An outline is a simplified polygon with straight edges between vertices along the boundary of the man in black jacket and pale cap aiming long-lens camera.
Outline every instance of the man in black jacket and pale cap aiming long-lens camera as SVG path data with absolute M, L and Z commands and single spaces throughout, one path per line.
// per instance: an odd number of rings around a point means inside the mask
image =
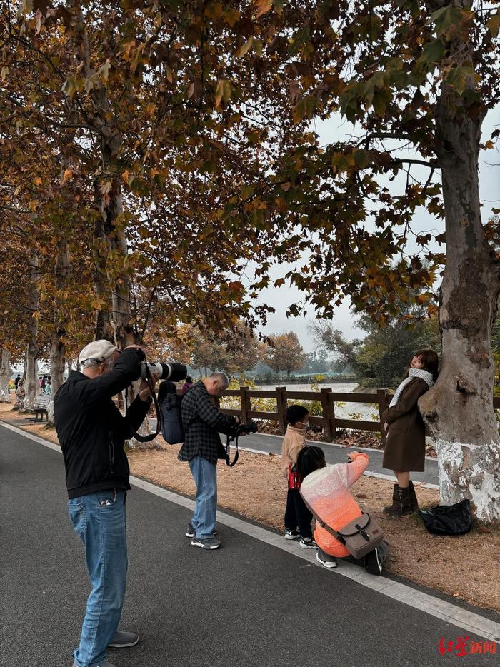
M 106 647 L 139 641 L 136 634 L 117 629 L 126 586 L 125 498 L 130 488 L 124 442 L 144 421 L 151 396 L 141 383 L 125 417 L 112 397 L 139 378 L 144 358 L 139 346 L 120 353 L 109 341 L 94 341 L 80 353 L 82 372 L 71 371 L 54 396 L 69 516 L 84 543 L 92 584 L 74 667 L 113 667 Z

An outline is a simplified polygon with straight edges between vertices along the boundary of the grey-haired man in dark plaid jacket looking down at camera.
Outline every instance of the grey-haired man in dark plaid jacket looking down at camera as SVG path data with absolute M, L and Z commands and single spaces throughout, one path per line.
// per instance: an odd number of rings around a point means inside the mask
M 229 386 L 225 373 L 211 376 L 192 386 L 182 398 L 182 426 L 184 444 L 179 452 L 181 461 L 189 461 L 196 483 L 196 508 L 186 536 L 192 546 L 216 549 L 221 542 L 216 533 L 217 513 L 217 459 L 225 458 L 221 433 L 231 433 L 238 425 L 234 417 L 216 408 L 211 396 L 221 396 Z

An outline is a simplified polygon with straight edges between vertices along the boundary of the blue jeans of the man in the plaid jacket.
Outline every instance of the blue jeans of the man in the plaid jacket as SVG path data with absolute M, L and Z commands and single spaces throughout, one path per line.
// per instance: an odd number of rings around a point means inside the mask
M 205 540 L 214 536 L 217 516 L 217 466 L 202 456 L 189 461 L 196 483 L 196 508 L 191 524 L 196 537 Z

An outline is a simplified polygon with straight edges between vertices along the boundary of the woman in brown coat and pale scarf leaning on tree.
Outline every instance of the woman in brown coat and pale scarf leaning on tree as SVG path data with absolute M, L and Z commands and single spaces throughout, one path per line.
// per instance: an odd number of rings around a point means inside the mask
M 382 414 L 387 431 L 382 466 L 394 471 L 392 506 L 388 514 L 410 514 L 419 508 L 411 471 L 423 471 L 425 462 L 425 426 L 418 401 L 436 381 L 438 356 L 433 350 L 419 350 L 411 358 L 406 378 L 396 389 L 389 408 Z

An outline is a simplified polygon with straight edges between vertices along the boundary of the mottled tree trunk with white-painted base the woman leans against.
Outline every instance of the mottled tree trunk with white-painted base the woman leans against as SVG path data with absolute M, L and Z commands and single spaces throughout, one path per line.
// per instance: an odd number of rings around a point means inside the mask
M 469 498 L 477 518 L 498 521 L 500 438 L 493 408 L 491 329 L 500 280 L 498 261 L 481 223 L 481 121 L 481 115 L 469 114 L 456 92 L 443 84 L 436 107 L 446 211 L 446 267 L 439 306 L 443 359 L 438 381 L 419 407 L 436 445 L 441 503 Z

